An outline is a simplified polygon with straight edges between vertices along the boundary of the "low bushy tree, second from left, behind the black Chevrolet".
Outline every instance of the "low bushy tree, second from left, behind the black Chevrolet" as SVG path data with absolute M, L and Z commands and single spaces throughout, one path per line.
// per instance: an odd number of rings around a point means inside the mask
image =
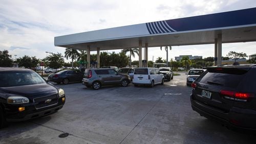
M 24 66 L 26 68 L 34 68 L 37 66 L 37 64 L 40 62 L 39 59 L 36 57 L 29 57 L 29 56 L 24 56 L 22 58 L 18 58 L 17 62 L 19 66 Z

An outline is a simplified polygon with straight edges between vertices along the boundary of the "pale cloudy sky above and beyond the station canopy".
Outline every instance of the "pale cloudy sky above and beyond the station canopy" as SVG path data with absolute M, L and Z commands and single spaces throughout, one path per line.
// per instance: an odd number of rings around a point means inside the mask
M 1 0 L 0 51 L 8 50 L 13 59 L 14 55 L 42 59 L 46 52 L 64 56 L 65 48 L 54 46 L 55 36 L 253 7 L 256 7 L 255 0 Z M 256 54 L 255 47 L 256 42 L 225 43 L 222 56 L 230 51 Z M 149 60 L 166 59 L 166 52 L 160 47 L 150 47 L 148 51 Z M 172 46 L 168 55 L 169 59 L 179 55 L 214 57 L 214 44 Z M 132 60 L 138 60 L 138 56 Z

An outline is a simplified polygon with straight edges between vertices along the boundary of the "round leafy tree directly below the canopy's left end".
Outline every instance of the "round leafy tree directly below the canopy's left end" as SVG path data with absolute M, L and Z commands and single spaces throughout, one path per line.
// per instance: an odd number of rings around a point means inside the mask
M 48 66 L 56 69 L 55 72 L 57 72 L 57 68 L 62 67 L 63 64 L 65 63 L 61 53 L 57 53 L 57 54 L 52 53 L 52 55 L 48 56 L 47 59 L 48 59 Z

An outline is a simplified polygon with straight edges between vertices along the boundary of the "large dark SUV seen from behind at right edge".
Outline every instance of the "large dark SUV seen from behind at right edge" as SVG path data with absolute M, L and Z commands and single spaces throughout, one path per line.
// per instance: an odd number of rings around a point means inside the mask
M 256 66 L 208 67 L 191 84 L 193 110 L 232 129 L 256 130 Z

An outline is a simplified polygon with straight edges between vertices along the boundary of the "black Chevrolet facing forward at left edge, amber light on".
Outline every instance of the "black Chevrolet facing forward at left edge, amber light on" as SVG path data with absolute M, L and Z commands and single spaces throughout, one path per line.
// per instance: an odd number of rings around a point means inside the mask
M 31 69 L 0 67 L 0 128 L 6 122 L 52 114 L 63 107 L 65 99 L 63 89 Z

